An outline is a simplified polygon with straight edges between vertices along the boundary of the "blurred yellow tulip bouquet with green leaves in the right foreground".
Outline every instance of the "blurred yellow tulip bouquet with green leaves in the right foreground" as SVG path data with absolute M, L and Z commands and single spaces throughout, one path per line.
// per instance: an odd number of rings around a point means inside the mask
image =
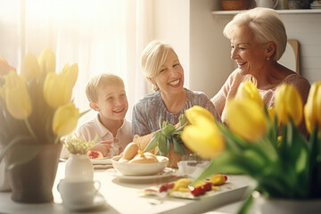
M 321 198 L 321 82 L 311 86 L 304 107 L 294 86 L 281 85 L 269 109 L 250 81 L 226 104 L 227 126 L 202 107 L 185 111 L 185 145 L 211 159 L 198 180 L 217 172 L 243 173 L 256 181 L 253 190 L 269 198 Z M 309 140 L 297 129 L 303 118 Z M 251 200 L 250 194 L 243 211 Z

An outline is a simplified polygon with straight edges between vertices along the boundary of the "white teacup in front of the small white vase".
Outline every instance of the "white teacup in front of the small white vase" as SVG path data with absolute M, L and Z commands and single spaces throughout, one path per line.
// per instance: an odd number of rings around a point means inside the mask
M 62 179 L 57 185 L 62 202 L 67 205 L 90 205 L 100 188 L 99 181 Z

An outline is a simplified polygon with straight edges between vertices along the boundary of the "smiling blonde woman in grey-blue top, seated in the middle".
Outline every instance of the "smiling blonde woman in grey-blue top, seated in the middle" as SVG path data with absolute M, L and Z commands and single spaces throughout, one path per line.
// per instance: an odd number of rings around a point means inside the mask
M 135 104 L 133 136 L 144 136 L 159 130 L 160 119 L 177 124 L 179 116 L 193 105 L 208 109 L 220 120 L 207 95 L 184 87 L 184 70 L 170 45 L 158 41 L 148 44 L 142 55 L 142 68 L 155 92 L 145 95 Z

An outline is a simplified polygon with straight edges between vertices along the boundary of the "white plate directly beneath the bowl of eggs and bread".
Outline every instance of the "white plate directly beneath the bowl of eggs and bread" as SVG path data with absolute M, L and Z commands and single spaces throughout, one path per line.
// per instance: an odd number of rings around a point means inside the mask
M 124 179 L 124 180 L 149 180 L 149 179 L 158 179 L 158 178 L 163 178 L 163 177 L 170 177 L 173 176 L 174 173 L 176 172 L 175 169 L 171 168 L 165 168 L 162 170 L 160 173 L 152 176 L 124 176 L 121 175 L 119 172 L 117 172 L 115 169 L 107 169 L 106 170 L 111 176 L 117 177 L 119 179 Z

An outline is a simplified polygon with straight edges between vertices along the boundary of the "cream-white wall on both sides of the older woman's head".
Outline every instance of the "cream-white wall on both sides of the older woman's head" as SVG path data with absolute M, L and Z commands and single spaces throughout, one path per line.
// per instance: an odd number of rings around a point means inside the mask
M 215 95 L 234 70 L 230 45 L 223 36 L 233 15 L 213 15 L 219 0 L 155 0 L 155 37 L 177 50 L 185 68 L 185 86 Z M 288 38 L 300 42 L 300 74 L 321 80 L 321 13 L 282 14 Z

